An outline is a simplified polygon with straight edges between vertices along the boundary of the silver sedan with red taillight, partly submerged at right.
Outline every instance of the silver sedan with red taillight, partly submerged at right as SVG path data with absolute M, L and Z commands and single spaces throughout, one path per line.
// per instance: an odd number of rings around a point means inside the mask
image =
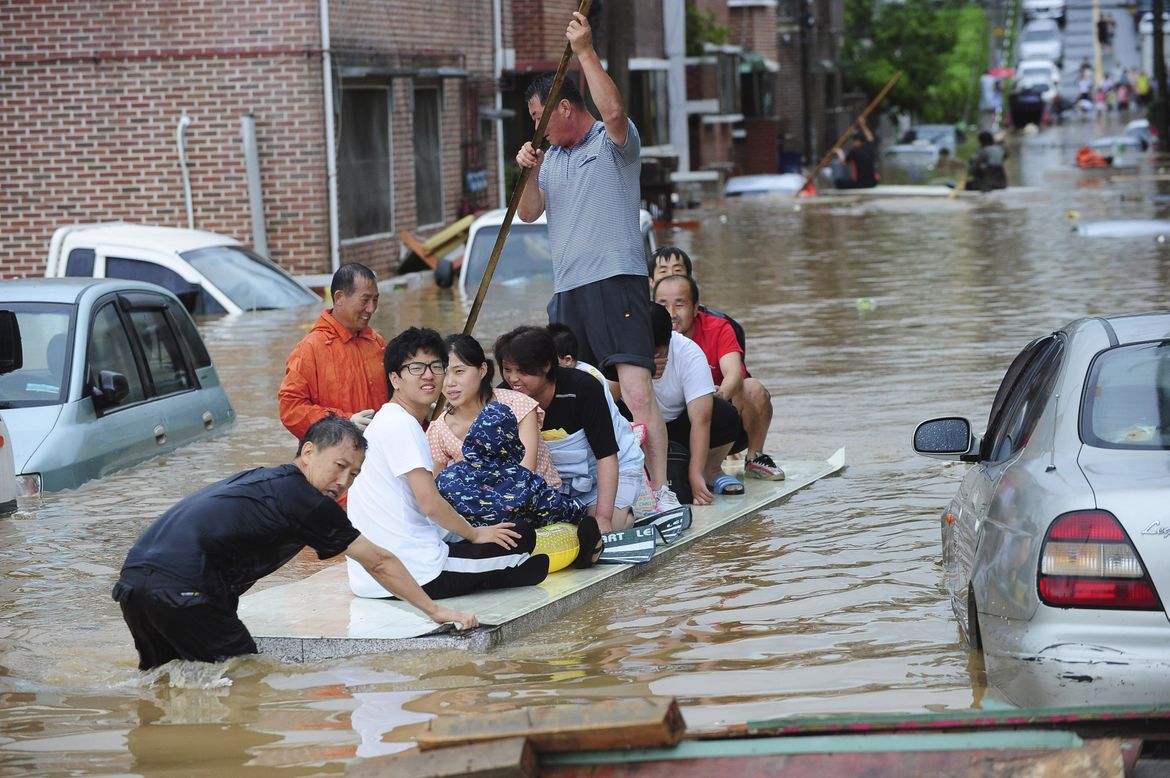
M 1017 704 L 1069 684 L 1170 701 L 1170 315 L 1033 340 L 982 435 L 932 419 L 914 448 L 973 464 L 942 516 L 943 574 L 989 679 L 1014 679 Z

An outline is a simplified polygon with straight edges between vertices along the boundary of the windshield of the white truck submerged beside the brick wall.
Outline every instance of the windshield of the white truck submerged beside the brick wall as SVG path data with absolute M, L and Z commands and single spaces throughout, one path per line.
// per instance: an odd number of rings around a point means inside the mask
M 183 259 L 246 311 L 321 302 L 271 262 L 239 246 L 201 248 Z

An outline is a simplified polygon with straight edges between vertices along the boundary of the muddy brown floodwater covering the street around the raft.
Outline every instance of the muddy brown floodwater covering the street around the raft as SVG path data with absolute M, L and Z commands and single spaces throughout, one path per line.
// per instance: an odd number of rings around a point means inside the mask
M 1072 123 L 1013 139 L 1009 175 L 1026 191 L 680 212 L 698 228 L 659 241 L 686 248 L 703 302 L 746 328 L 776 406 L 770 449 L 820 460 L 845 446 L 848 467 L 488 654 L 138 673 L 109 595 L 121 562 L 181 496 L 291 459 L 276 390 L 318 311 L 202 322 L 239 418 L 229 433 L 0 521 L 0 773 L 342 772 L 410 748 L 433 716 L 651 694 L 676 696 L 690 729 L 1004 704 L 941 580 L 938 515 L 964 467 L 916 456 L 910 434 L 944 414 L 982 432 L 1012 357 L 1069 319 L 1165 308 L 1170 246 L 1071 229 L 1069 216 L 1170 218 L 1148 160 L 1113 180 L 1072 166 L 1093 136 Z M 476 335 L 543 322 L 549 289 L 493 289 Z M 394 289 L 374 326 L 450 332 L 468 307 L 429 284 Z M 321 564 L 303 553 L 260 586 Z

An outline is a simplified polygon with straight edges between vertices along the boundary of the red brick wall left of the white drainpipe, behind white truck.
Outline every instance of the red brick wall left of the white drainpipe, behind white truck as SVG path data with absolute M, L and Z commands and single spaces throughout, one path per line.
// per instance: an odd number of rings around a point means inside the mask
M 230 20 L 230 22 L 228 22 Z M 0 276 L 43 273 L 53 230 L 122 219 L 252 234 L 240 116 L 253 112 L 269 248 L 328 261 L 312 0 L 6 4 L 0 9 Z

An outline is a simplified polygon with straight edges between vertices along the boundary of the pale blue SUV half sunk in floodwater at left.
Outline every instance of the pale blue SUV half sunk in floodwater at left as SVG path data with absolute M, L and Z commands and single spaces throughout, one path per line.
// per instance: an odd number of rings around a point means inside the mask
M 26 496 L 81 486 L 235 421 L 194 322 L 161 287 L 6 281 L 4 322 L 15 351 L 0 370 L 0 413 Z

